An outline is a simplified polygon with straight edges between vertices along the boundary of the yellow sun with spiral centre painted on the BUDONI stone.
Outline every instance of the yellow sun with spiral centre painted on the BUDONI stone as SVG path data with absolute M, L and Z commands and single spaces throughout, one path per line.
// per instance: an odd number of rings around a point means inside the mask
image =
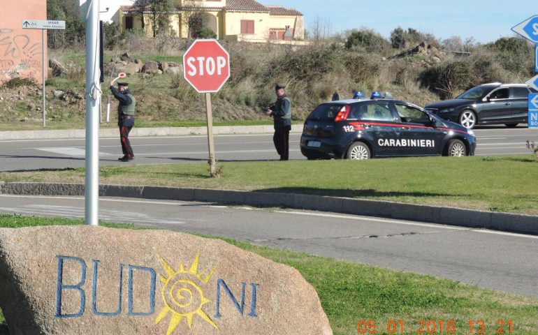
M 165 277 L 161 275 L 161 281 L 163 282 L 161 293 L 164 307 L 161 309 L 159 316 L 157 316 L 155 325 L 161 322 L 168 313 L 172 313 L 170 323 L 168 324 L 168 330 L 166 331 L 166 335 L 170 335 L 174 332 L 175 327 L 180 324 L 183 318 L 187 319 L 187 325 L 189 325 L 189 329 L 192 329 L 192 319 L 196 314 L 201 316 L 203 320 L 207 321 L 216 329 L 219 329 L 209 315 L 202 310 L 203 305 L 210 302 L 210 300 L 204 297 L 203 290 L 196 283 L 208 283 L 215 269 L 212 269 L 207 275 L 205 275 L 205 270 L 198 272 L 200 253 L 196 253 L 196 258 L 194 258 L 194 261 L 188 270 L 185 270 L 183 263 L 181 263 L 180 269 L 177 271 L 168 265 L 168 262 L 166 262 L 161 255 L 158 256 L 161 260 L 161 264 L 166 270 L 167 276 Z

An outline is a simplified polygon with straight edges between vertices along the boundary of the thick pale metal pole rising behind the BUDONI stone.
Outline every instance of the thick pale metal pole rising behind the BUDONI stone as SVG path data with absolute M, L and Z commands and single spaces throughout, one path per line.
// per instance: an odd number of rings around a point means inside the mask
M 97 0 L 87 4 L 85 223 L 99 225 L 99 5 Z

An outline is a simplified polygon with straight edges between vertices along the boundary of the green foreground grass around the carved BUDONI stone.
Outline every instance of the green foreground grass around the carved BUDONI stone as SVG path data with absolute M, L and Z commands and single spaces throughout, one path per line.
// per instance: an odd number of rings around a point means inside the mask
M 76 225 L 82 224 L 82 221 L 0 214 L 1 227 L 53 224 Z M 358 334 L 356 327 L 361 319 L 375 320 L 377 334 L 387 334 L 383 330 L 388 320 L 403 320 L 405 332 L 402 334 L 416 334 L 419 320 L 444 320 L 445 323 L 455 320 L 457 332 L 453 334 L 470 334 L 467 321 L 478 319 L 494 324 L 499 319 L 511 320 L 512 334 L 531 335 L 538 329 L 538 299 L 507 295 L 433 276 L 224 240 L 298 269 L 316 288 L 335 335 Z M 486 330 L 484 334 L 494 334 L 496 329 L 488 326 Z M 7 326 L 0 313 L 0 335 L 7 334 Z M 438 328 L 435 334 L 440 334 Z M 507 328 L 504 334 L 509 334 Z

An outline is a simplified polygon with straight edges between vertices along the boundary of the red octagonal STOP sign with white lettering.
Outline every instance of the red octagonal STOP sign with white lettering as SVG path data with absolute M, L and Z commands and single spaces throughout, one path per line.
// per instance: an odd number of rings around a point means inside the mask
M 217 40 L 195 40 L 183 54 L 183 77 L 200 93 L 217 92 L 230 77 L 230 55 Z

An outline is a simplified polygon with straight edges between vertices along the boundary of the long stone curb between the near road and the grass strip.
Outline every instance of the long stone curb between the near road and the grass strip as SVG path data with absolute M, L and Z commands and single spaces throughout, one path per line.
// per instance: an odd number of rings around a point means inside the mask
M 16 183 L 0 181 L 0 194 L 84 195 L 84 184 Z M 245 204 L 254 207 L 286 207 L 400 220 L 423 221 L 466 228 L 487 228 L 504 232 L 538 235 L 538 216 L 475 211 L 382 200 L 337 198 L 324 195 L 228 191 L 166 186 L 100 185 L 99 195 L 121 198 L 180 200 Z

